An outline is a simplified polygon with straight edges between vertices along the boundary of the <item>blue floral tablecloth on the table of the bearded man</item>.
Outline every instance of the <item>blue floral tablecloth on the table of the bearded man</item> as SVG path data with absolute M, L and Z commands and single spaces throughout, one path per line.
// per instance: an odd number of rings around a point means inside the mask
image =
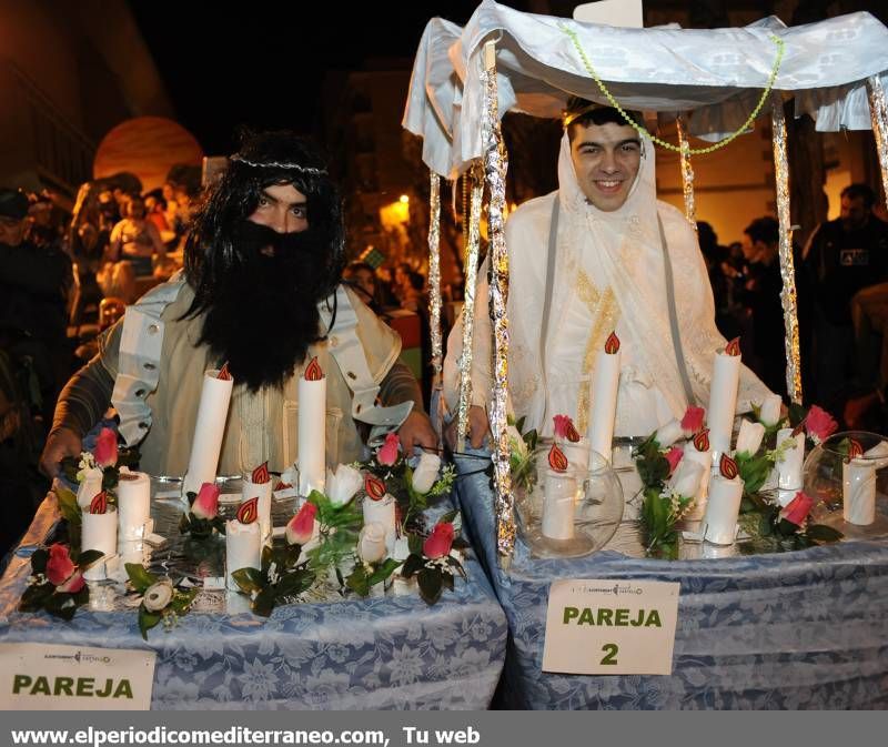
M 434 607 L 418 595 L 302 604 L 270 618 L 195 613 L 144 643 L 135 612 L 78 610 L 71 623 L 16 612 L 29 546 L 57 519 L 47 498 L 0 583 L 0 642 L 157 652 L 153 709 L 483 709 L 507 627 L 477 559 Z

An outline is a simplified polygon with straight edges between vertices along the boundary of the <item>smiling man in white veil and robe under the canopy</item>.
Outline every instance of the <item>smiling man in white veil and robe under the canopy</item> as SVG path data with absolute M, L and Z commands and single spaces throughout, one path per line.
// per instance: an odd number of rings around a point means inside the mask
M 637 114 L 632 115 L 642 122 Z M 657 201 L 653 142 L 620 112 L 572 98 L 556 192 L 521 205 L 505 229 L 509 258 L 509 401 L 525 428 L 551 436 L 552 416 L 588 427 L 591 382 L 612 332 L 623 367 L 615 436 L 646 436 L 688 404 L 706 405 L 713 357 L 726 341 L 685 216 Z M 487 262 L 476 290 L 470 437 L 488 431 Z M 451 333 L 444 394 L 458 402 L 462 324 Z M 769 392 L 743 367 L 737 412 Z

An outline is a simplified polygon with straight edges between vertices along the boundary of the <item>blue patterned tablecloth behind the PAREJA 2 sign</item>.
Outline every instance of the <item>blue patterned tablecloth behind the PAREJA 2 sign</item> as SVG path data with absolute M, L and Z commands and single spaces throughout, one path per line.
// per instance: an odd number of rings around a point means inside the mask
M 605 549 L 532 558 L 518 541 L 498 568 L 488 478 L 460 460 L 467 528 L 509 626 L 503 693 L 513 708 L 704 709 L 888 707 L 888 541 L 725 559 L 655 561 Z M 884 505 L 880 506 L 884 509 Z M 678 582 L 672 676 L 542 672 L 556 578 Z

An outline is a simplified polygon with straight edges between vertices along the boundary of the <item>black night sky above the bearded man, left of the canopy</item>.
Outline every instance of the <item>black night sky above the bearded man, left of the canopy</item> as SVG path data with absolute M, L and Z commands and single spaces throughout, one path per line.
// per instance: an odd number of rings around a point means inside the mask
M 326 70 L 412 62 L 431 18 L 464 24 L 477 4 L 130 1 L 176 119 L 211 154 L 231 152 L 239 124 L 314 133 Z

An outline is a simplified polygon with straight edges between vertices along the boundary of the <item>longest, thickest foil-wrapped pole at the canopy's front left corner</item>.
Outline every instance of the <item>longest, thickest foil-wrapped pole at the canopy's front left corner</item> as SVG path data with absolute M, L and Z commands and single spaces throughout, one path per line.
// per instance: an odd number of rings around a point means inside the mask
M 508 254 L 504 235 L 503 209 L 506 204 L 506 154 L 500 129 L 496 91 L 496 46 L 484 44 L 484 111 L 482 140 L 484 170 L 491 192 L 487 209 L 487 234 L 491 240 L 491 315 L 493 317 L 493 397 L 490 408 L 493 434 L 494 484 L 496 486 L 496 549 L 500 564 L 507 567 L 515 549 L 515 496 L 508 465 L 508 437 L 506 434 L 508 385 Z

